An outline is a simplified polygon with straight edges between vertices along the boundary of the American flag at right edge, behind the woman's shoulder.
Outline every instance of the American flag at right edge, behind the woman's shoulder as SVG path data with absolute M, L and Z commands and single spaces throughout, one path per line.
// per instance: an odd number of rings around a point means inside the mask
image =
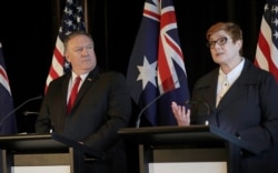
M 264 9 L 255 65 L 271 72 L 278 82 L 278 1 L 267 0 Z

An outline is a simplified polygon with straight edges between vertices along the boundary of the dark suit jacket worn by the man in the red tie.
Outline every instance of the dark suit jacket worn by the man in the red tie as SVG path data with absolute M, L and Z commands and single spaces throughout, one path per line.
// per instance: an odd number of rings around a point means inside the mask
M 50 118 L 56 133 L 103 152 L 106 161 L 101 166 L 108 165 L 106 170 L 125 172 L 125 147 L 117 134 L 120 128 L 128 125 L 131 115 L 131 100 L 125 77 L 98 68 L 92 70 L 79 90 L 71 113 L 67 115 L 70 78 L 71 73 L 68 73 L 50 83 L 36 131 L 48 133 L 50 124 L 46 120 Z

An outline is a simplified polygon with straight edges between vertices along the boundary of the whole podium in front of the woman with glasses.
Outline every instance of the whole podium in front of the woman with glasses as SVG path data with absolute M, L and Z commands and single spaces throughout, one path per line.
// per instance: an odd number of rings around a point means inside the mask
M 126 128 L 120 129 L 118 133 L 139 145 L 140 173 L 156 173 L 156 167 L 150 166 L 156 165 L 153 163 L 198 163 L 197 167 L 200 167 L 201 163 L 219 163 L 217 164 L 221 169 L 219 172 L 230 173 L 232 169 L 230 166 L 230 144 L 256 153 L 247 143 L 216 126 Z M 211 165 L 209 166 L 211 167 Z M 167 172 L 165 170 L 158 172 Z M 214 169 L 211 172 L 215 173 L 216 170 Z M 169 172 L 179 171 L 171 169 Z M 180 172 L 201 171 L 182 169 Z

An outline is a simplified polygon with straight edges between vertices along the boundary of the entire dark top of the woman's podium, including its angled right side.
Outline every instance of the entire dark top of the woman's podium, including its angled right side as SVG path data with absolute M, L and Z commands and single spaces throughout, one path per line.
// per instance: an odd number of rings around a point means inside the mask
M 123 128 L 118 131 L 123 138 L 138 144 L 167 145 L 167 144 L 195 144 L 215 145 L 222 142 L 234 143 L 251 153 L 257 154 L 248 143 L 237 136 L 224 132 L 217 126 L 189 125 L 189 126 L 143 126 Z

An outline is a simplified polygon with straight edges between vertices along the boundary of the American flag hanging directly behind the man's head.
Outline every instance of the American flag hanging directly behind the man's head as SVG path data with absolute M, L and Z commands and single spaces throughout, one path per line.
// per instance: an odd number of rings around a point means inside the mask
M 76 30 L 86 30 L 82 4 L 80 0 L 67 0 L 44 92 L 53 79 L 61 77 L 64 72 L 71 69 L 70 64 L 63 57 L 63 40 L 66 35 Z

